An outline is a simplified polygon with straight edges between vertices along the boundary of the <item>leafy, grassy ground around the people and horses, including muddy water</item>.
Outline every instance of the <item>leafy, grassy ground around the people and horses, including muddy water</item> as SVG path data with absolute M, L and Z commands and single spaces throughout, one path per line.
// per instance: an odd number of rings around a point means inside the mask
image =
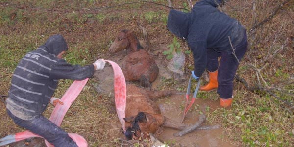
M 187 0 L 171 1 L 172 7 L 189 11 Z M 294 1 L 285 0 L 289 2 L 279 8 L 283 1 L 230 0 L 220 8 L 239 20 L 248 33 L 248 51 L 234 80 L 234 101 L 225 109 L 219 106 L 216 91 L 199 92 L 184 123 L 195 122 L 203 113 L 200 108 L 206 105 L 205 123 L 220 124 L 221 128 L 195 131 L 182 138 L 172 136 L 175 130 L 164 129 L 156 137 L 170 147 L 294 146 Z M 187 43 L 167 30 L 167 5 L 168 0 L 0 0 L 0 95 L 8 95 L 19 60 L 49 36 L 62 34 L 69 46 L 65 59 L 87 65 L 98 58 L 112 58 L 108 49 L 122 29 L 134 31 L 156 58 L 160 74 L 152 88 L 185 92 L 193 70 L 192 55 Z M 263 20 L 265 23 L 260 24 Z M 164 71 L 171 70 L 167 67 L 174 54 L 163 52 L 175 43 L 181 45 L 178 50 L 184 56 L 184 64 L 180 70 L 167 74 Z M 208 82 L 207 73 L 201 78 L 202 85 Z M 60 80 L 54 96 L 61 98 L 72 82 Z M 131 145 L 120 139 L 123 134 L 113 96 L 97 91 L 101 84 L 99 78 L 89 80 L 61 127 L 83 136 L 89 147 L 152 146 L 149 140 Z M 184 100 L 184 96 L 176 95 L 156 102 L 177 120 Z M 43 115 L 49 118 L 53 108 L 49 105 Z M 0 120 L 0 138 L 24 130 L 8 117 L 2 101 Z

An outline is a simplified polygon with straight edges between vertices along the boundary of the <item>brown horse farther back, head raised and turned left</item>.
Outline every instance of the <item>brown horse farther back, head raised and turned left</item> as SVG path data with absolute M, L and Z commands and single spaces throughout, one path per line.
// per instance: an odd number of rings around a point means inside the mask
M 153 57 L 143 49 L 132 31 L 120 31 L 109 51 L 116 53 L 123 49 L 127 50 L 121 65 L 125 80 L 140 81 L 143 87 L 150 87 L 150 83 L 157 78 L 159 69 Z

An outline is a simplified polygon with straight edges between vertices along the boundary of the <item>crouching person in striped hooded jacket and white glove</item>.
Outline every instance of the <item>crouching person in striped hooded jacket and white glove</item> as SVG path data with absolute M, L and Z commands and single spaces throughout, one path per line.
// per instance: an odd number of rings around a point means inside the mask
M 6 99 L 8 115 L 19 126 L 44 137 L 55 147 L 78 147 L 59 126 L 42 116 L 49 101 L 62 104 L 52 97 L 59 79 L 83 80 L 93 76 L 95 70 L 104 68 L 105 61 L 80 66 L 62 59 L 68 50 L 65 39 L 57 34 L 44 45 L 28 52 L 17 65 Z

